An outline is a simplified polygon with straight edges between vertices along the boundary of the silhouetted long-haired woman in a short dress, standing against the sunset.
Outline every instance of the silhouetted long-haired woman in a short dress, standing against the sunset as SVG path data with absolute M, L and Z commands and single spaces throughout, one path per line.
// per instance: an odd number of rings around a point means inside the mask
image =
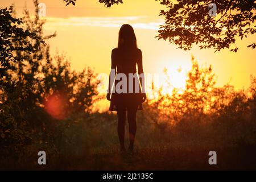
M 112 64 L 109 76 L 107 99 L 109 110 L 117 111 L 117 131 L 121 152 L 125 151 L 126 111 L 129 123 L 129 151 L 133 152 L 137 130 L 136 113 L 142 110 L 146 100 L 142 52 L 137 47 L 137 39 L 129 24 L 123 24 L 119 30 L 118 47 L 112 50 Z M 138 73 L 136 65 L 138 66 Z M 109 92 L 111 90 L 111 92 Z

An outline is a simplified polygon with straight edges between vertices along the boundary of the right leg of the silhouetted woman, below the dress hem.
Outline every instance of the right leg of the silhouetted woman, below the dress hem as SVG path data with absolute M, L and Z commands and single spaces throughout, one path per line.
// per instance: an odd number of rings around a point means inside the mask
M 137 130 L 136 124 L 136 113 L 137 113 L 137 105 L 129 106 L 127 108 L 127 117 L 129 122 L 129 137 L 130 137 L 130 146 L 129 150 L 133 151 L 134 139 Z

